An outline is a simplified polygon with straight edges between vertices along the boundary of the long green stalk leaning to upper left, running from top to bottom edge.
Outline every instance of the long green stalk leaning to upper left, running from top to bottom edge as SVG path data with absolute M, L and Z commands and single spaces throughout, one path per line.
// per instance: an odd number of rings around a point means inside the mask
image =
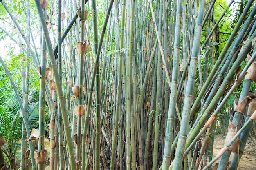
M 67 139 L 67 148 L 68 148 L 69 157 L 70 157 L 71 170 L 75 170 L 76 163 L 75 163 L 75 159 L 74 159 L 73 144 L 72 144 L 71 133 L 70 133 L 70 124 L 69 124 L 69 120 L 68 120 L 68 116 L 67 116 L 67 109 L 65 106 L 65 96 L 63 95 L 63 91 L 61 88 L 61 79 L 58 74 L 58 68 L 57 68 L 55 56 L 54 56 L 54 53 L 52 50 L 52 43 L 49 38 L 49 32 L 47 30 L 47 25 L 46 25 L 44 17 L 43 17 L 43 11 L 42 11 L 42 8 L 40 7 L 40 2 L 38 0 L 35 0 L 35 2 L 36 2 L 37 11 L 39 13 L 40 22 L 42 24 L 47 49 L 49 51 L 49 57 L 50 57 L 51 64 L 52 64 L 52 71 L 53 71 L 54 77 L 56 79 L 56 88 L 57 88 L 57 93 L 58 93 L 59 104 L 61 107 L 61 113 L 63 116 L 64 130 L 65 130 L 65 135 L 66 135 L 66 139 Z

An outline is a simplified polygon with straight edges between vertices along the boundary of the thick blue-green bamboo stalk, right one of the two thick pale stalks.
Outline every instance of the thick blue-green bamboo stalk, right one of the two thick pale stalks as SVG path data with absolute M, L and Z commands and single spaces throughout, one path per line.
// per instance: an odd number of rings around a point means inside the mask
M 189 68 L 189 77 L 188 77 L 188 84 L 185 93 L 184 99 L 184 106 L 182 112 L 182 121 L 180 127 L 180 135 L 177 143 L 177 150 L 175 152 L 175 158 L 173 160 L 173 169 L 180 170 L 182 166 L 182 158 L 183 152 L 186 143 L 186 135 L 188 131 L 189 125 L 189 113 L 191 109 L 192 97 L 194 92 L 194 84 L 195 84 L 195 72 L 196 72 L 196 64 L 198 60 L 198 53 L 199 53 L 199 46 L 200 46 L 200 38 L 202 33 L 202 20 L 203 20 L 203 13 L 204 13 L 204 4 L 205 1 L 200 1 L 199 9 L 198 9 L 198 18 L 196 21 L 196 28 L 195 28 L 195 39 L 193 42 L 193 49 L 190 61 L 190 68 Z

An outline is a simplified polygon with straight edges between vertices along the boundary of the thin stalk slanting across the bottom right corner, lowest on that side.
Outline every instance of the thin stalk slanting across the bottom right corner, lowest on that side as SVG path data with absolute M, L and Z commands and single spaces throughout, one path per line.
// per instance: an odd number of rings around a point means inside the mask
M 236 133 L 236 135 L 229 141 L 229 143 L 227 144 L 227 146 L 224 146 L 220 152 L 216 155 L 216 157 L 213 158 L 213 160 L 211 162 L 209 162 L 207 164 L 207 166 L 205 166 L 202 170 L 207 170 L 207 168 L 209 168 L 215 161 L 217 161 L 224 153 L 225 151 L 227 151 L 229 149 L 229 147 L 231 146 L 231 144 L 234 143 L 234 141 L 240 136 L 240 134 L 243 132 L 243 130 L 246 129 L 246 127 L 252 122 L 256 120 L 256 111 L 254 111 L 254 113 L 252 114 L 252 116 L 249 118 L 248 121 L 246 121 L 246 123 L 242 126 L 242 128 L 240 128 L 240 130 Z

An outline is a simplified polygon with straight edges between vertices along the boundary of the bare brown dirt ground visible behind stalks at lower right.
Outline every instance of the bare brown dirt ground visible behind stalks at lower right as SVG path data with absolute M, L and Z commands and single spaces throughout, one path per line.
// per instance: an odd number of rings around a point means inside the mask
M 224 146 L 225 137 L 221 135 L 216 135 L 214 140 L 213 155 L 216 156 L 220 149 Z M 233 153 L 231 153 L 230 159 Z M 219 161 L 219 160 L 218 160 Z M 217 161 L 217 162 L 218 162 Z M 213 163 L 215 165 L 215 163 Z M 249 138 L 238 164 L 238 170 L 256 170 L 256 138 Z

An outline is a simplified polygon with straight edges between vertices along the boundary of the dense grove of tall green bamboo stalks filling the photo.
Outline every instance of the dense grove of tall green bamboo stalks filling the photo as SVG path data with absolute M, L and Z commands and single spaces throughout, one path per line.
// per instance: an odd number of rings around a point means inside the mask
M 22 93 L 0 57 L 23 117 L 21 170 L 28 160 L 43 170 L 47 154 L 50 170 L 238 168 L 256 119 L 253 0 L 240 1 L 228 33 L 219 27 L 234 0 L 218 18 L 218 0 L 0 2 L 12 22 L 0 29 L 21 54 Z M 27 121 L 31 69 L 40 75 L 36 135 Z M 225 144 L 213 155 L 216 122 L 234 91 Z

